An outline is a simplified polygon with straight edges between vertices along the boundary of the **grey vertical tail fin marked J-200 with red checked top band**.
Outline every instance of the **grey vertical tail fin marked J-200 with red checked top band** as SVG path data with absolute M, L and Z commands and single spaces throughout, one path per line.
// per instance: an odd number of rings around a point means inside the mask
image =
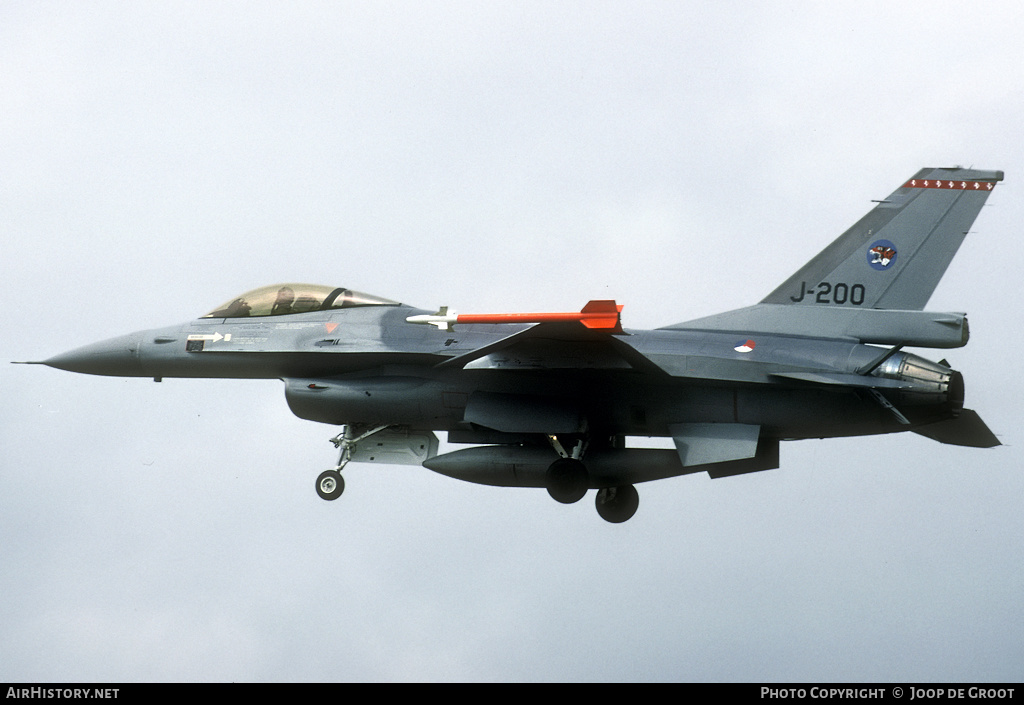
M 922 169 L 762 303 L 921 310 L 1001 171 Z

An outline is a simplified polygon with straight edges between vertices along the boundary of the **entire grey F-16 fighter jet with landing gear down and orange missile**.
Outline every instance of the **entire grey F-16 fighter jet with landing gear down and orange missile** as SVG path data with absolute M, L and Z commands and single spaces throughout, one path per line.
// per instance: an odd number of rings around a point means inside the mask
M 779 465 L 779 442 L 910 430 L 999 445 L 964 377 L 904 347 L 968 341 L 965 314 L 924 310 L 1001 171 L 928 168 L 761 302 L 656 330 L 594 300 L 557 314 L 434 312 L 335 286 L 275 284 L 195 321 L 41 363 L 98 375 L 280 378 L 292 411 L 341 426 L 326 500 L 350 462 L 545 488 L 629 520 L 635 485 Z M 468 447 L 438 454 L 436 431 Z M 675 448 L 631 447 L 664 437 Z

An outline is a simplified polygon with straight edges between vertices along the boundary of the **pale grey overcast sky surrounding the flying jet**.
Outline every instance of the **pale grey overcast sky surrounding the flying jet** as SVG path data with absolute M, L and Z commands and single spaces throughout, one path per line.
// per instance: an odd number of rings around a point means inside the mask
M 1021 680 L 1024 9 L 0 3 L 0 680 Z M 929 308 L 1006 446 L 784 444 L 592 494 L 352 465 L 279 381 L 41 360 L 282 281 L 754 303 L 924 166 L 1004 169 Z

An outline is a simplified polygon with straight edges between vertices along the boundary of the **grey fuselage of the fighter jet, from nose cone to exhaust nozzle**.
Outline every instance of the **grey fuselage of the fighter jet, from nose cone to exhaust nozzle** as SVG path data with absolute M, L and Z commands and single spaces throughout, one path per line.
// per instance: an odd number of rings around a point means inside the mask
M 689 422 L 757 424 L 778 439 L 908 427 L 866 390 L 841 383 L 855 382 L 858 371 L 885 351 L 871 345 L 626 330 L 614 336 L 623 348 L 616 355 L 609 354 L 604 340 L 595 339 L 587 349 L 579 342 L 563 347 L 552 337 L 531 341 L 535 355 L 519 345 L 514 352 L 498 350 L 464 366 L 445 366 L 528 326 L 466 325 L 449 332 L 406 323 L 422 313 L 388 306 L 253 320 L 199 319 L 87 345 L 46 364 L 155 379 L 280 378 L 291 409 L 301 418 L 445 430 L 467 442 L 584 430 L 670 437 L 670 426 Z M 559 357 L 563 349 L 564 358 Z M 631 355 L 646 361 L 646 367 L 631 366 Z M 897 406 L 907 420 L 932 423 L 959 410 L 958 373 L 916 356 L 896 356 L 923 364 L 935 375 L 894 380 L 887 390 L 899 398 Z M 810 383 L 828 375 L 835 383 Z M 508 410 L 507 418 L 500 409 Z

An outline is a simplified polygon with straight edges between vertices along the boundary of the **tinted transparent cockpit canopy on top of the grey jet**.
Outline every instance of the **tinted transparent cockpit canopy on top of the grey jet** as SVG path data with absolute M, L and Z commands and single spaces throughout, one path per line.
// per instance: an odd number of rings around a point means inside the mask
M 253 289 L 217 306 L 204 319 L 285 316 L 353 306 L 397 306 L 397 301 L 344 287 L 318 284 L 274 284 Z

